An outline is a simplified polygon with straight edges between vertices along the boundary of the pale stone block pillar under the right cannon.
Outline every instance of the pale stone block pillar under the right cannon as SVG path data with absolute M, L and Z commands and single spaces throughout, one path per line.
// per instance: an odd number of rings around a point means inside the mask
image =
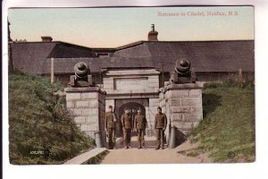
M 202 83 L 167 84 L 160 93 L 160 106 L 168 118 L 169 136 L 171 128 L 185 134 L 203 119 Z

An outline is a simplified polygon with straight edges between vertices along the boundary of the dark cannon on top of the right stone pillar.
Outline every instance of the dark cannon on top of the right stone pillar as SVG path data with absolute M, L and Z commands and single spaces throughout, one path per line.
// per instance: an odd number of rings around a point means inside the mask
M 171 82 L 180 83 L 195 83 L 197 81 L 196 72 L 191 69 L 191 64 L 186 59 L 177 60 L 174 67 L 174 72 L 171 74 Z

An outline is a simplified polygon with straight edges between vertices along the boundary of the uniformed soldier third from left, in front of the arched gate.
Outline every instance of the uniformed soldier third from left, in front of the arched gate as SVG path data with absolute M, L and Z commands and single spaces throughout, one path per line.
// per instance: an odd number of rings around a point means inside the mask
M 145 146 L 144 135 L 147 128 L 147 118 L 141 115 L 141 108 L 138 107 L 138 114 L 135 115 L 134 119 L 134 129 L 138 133 L 138 149 L 142 149 Z

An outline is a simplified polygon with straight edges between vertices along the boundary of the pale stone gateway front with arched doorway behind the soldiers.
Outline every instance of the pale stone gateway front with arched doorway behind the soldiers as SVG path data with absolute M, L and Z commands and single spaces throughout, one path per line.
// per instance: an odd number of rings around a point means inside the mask
M 103 81 L 107 92 L 106 108 L 112 105 L 119 120 L 123 107 L 131 109 L 131 116 L 137 114 L 137 107 L 144 108 L 147 135 L 154 135 L 156 107 L 159 106 L 159 72 L 154 69 L 113 70 L 105 73 Z M 117 126 L 120 130 L 120 121 Z M 116 133 L 121 135 L 120 131 Z

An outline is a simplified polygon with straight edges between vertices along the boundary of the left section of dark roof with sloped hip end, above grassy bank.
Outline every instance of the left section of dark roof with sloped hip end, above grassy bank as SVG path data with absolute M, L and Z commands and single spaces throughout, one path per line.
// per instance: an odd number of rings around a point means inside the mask
M 96 57 L 88 47 L 61 41 L 12 43 L 13 67 L 23 72 L 44 74 L 48 58 Z

